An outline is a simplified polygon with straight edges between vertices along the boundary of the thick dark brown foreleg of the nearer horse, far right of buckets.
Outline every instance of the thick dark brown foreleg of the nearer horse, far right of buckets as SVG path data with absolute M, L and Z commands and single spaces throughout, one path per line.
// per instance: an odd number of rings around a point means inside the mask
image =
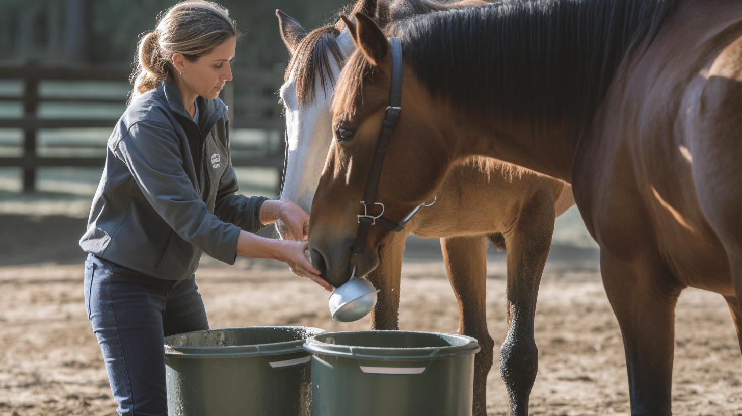
M 683 286 L 657 267 L 600 253 L 603 286 L 623 335 L 632 416 L 671 415 L 674 310 Z

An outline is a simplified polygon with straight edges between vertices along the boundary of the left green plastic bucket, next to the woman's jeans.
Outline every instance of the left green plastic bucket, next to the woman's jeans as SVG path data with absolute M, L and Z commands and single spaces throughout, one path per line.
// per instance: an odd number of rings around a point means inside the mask
M 311 357 L 323 330 L 224 328 L 165 338 L 170 416 L 309 415 Z

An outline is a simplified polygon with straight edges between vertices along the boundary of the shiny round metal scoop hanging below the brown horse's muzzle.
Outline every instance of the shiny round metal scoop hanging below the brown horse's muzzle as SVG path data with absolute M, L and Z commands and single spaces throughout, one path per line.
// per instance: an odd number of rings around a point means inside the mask
M 350 279 L 332 290 L 329 295 L 329 312 L 339 322 L 353 322 L 368 315 L 376 305 L 378 290 L 365 279 L 355 278 L 355 266 Z

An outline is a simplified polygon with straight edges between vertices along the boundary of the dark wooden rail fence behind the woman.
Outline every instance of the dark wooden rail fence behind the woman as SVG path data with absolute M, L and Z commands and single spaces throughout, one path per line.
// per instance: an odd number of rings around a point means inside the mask
M 125 68 L 50 68 L 37 65 L 0 67 L 0 79 L 22 81 L 21 95 L 0 94 L 0 101 L 22 102 L 23 114 L 18 118 L 0 118 L 0 129 L 22 129 L 24 131 L 23 155 L 20 157 L 0 157 L 0 166 L 17 166 L 23 169 L 23 189 L 36 188 L 36 169 L 42 166 L 103 166 L 105 157 L 42 157 L 37 152 L 37 132 L 41 129 L 85 129 L 111 128 L 118 118 L 99 117 L 39 117 L 42 103 L 108 103 L 124 104 L 126 97 L 45 97 L 39 94 L 43 81 L 121 81 L 128 80 L 131 70 Z M 281 108 L 275 91 L 283 82 L 282 74 L 271 71 L 234 71 L 234 79 L 227 82 L 223 90 L 223 100 L 229 105 L 229 118 L 232 129 L 283 130 L 284 120 L 280 119 Z M 237 93 L 237 94 L 235 94 Z M 235 98 L 235 95 L 237 98 Z M 266 137 L 267 134 L 266 134 Z M 103 148 L 104 143 L 100 147 Z M 90 146 L 88 146 L 90 147 Z M 253 148 L 240 149 L 233 146 L 234 166 L 275 167 L 278 175 L 283 166 L 283 144 L 263 146 L 258 151 Z M 234 152 L 234 151 L 237 152 Z M 240 152 L 242 151 L 242 152 Z M 243 156 L 240 156 L 243 155 Z

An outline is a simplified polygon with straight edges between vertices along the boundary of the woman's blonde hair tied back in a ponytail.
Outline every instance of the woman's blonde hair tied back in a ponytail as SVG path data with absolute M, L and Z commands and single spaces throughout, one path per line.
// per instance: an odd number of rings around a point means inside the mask
M 130 103 L 157 88 L 160 81 L 173 79 L 174 53 L 183 53 L 192 62 L 234 36 L 240 36 L 237 23 L 220 4 L 187 0 L 170 7 L 157 28 L 139 39 L 134 72 L 129 77 L 134 85 Z

